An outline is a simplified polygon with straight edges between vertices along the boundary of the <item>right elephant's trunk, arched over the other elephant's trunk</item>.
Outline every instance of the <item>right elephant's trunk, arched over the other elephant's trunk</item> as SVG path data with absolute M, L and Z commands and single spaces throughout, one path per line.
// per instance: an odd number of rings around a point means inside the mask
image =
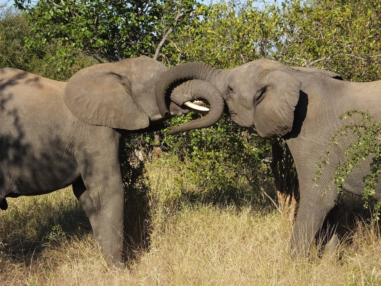
M 170 111 L 166 106 L 165 95 L 171 84 L 178 80 L 199 79 L 209 81 L 220 70 L 204 63 L 185 63 L 174 66 L 165 71 L 158 80 L 155 87 L 155 99 L 160 115 L 170 116 Z M 210 102 L 209 102 L 210 103 Z

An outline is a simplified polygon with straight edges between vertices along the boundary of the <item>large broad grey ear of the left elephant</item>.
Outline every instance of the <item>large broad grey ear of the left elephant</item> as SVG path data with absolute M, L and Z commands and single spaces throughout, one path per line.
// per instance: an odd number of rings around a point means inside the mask
M 67 82 L 64 101 L 81 121 L 112 128 L 136 130 L 149 125 L 149 117 L 131 92 L 126 67 L 96 64 L 78 71 Z

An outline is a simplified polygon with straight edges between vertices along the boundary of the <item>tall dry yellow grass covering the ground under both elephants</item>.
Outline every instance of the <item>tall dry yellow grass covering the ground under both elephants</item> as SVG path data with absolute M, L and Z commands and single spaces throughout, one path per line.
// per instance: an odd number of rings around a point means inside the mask
M 342 243 L 336 255 L 313 250 L 308 259 L 291 257 L 290 221 L 254 203 L 182 202 L 171 166 L 147 166 L 152 197 L 164 187 L 177 195 L 150 200 L 150 247 L 125 270 L 106 265 L 70 188 L 8 199 L 8 210 L 0 212 L 0 284 L 380 284 L 378 232 L 359 224 L 353 242 Z

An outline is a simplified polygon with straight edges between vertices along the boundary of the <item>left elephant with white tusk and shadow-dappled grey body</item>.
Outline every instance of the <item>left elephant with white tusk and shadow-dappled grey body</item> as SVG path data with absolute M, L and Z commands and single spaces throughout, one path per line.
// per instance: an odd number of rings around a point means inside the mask
M 121 138 L 160 129 L 166 118 L 189 112 L 187 101 L 203 98 L 210 112 L 177 132 L 208 127 L 224 109 L 216 87 L 191 80 L 171 87 L 170 112 L 161 116 L 155 85 L 167 69 L 147 56 L 95 64 L 68 82 L 0 69 L 0 208 L 7 197 L 72 185 L 105 259 L 123 264 Z

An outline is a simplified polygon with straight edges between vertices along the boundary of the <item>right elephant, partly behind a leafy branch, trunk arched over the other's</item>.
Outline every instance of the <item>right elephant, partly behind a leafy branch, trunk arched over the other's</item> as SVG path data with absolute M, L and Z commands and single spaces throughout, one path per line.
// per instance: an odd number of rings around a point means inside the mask
M 185 63 L 167 73 L 165 90 L 178 79 L 200 79 L 214 84 L 221 92 L 232 121 L 243 127 L 255 127 L 264 138 L 283 138 L 293 156 L 299 178 L 299 209 L 291 252 L 307 256 L 312 242 L 322 230 L 325 219 L 339 198 L 331 178 L 336 166 L 346 161 L 344 155 L 354 135 L 342 137 L 331 148 L 329 164 L 315 183 L 317 164 L 324 156 L 333 135 L 342 126 L 354 123 L 355 116 L 344 120 L 341 114 L 357 109 L 381 118 L 381 81 L 347 82 L 335 72 L 315 67 L 292 67 L 270 59 L 257 59 L 220 70 L 203 63 Z M 157 86 L 157 88 L 160 85 Z M 157 93 L 160 114 L 169 111 Z M 357 166 L 343 183 L 344 190 L 363 195 L 363 176 L 370 174 L 371 157 Z M 328 188 L 329 189 L 328 189 Z M 376 185 L 373 199 L 381 198 L 381 182 Z M 334 231 L 334 230 L 333 230 Z M 335 233 L 328 243 L 338 244 Z

